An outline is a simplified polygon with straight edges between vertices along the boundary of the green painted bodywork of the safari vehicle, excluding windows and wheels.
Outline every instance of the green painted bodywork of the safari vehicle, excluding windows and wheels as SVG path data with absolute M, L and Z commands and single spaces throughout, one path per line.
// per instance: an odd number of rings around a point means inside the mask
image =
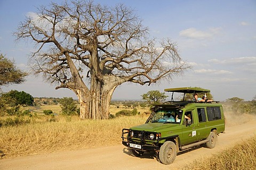
M 163 106 L 163 105 L 161 105 Z M 171 105 L 165 105 L 169 109 L 172 108 Z M 197 116 L 197 108 L 205 109 L 207 107 L 219 107 L 221 111 L 221 119 L 208 121 L 206 116 L 206 122 L 200 123 Z M 149 131 L 149 132 L 158 132 L 161 133 L 161 138 L 164 138 L 162 141 L 160 140 L 159 143 L 164 143 L 166 138 L 171 137 L 179 137 L 179 145 L 186 145 L 192 142 L 196 142 L 199 140 L 206 139 L 210 132 L 213 129 L 217 130 L 217 134 L 225 131 L 225 116 L 223 114 L 223 108 L 221 104 L 214 104 L 214 103 L 189 103 L 185 105 L 183 108 L 180 109 L 183 111 L 182 118 L 180 123 L 151 123 L 148 122 L 146 124 L 142 124 L 139 126 L 134 126 L 130 128 L 131 130 L 138 130 L 138 131 Z M 186 125 L 185 123 L 185 113 L 191 112 L 193 117 L 193 123 L 191 125 Z M 206 112 L 207 115 L 207 112 Z M 152 142 L 148 142 L 150 145 Z

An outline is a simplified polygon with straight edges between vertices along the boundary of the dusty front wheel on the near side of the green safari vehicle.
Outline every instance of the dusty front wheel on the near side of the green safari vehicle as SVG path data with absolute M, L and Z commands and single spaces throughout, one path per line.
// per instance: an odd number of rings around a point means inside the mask
M 169 165 L 174 162 L 176 155 L 177 148 L 175 143 L 171 141 L 166 141 L 160 148 L 159 160 L 162 164 Z

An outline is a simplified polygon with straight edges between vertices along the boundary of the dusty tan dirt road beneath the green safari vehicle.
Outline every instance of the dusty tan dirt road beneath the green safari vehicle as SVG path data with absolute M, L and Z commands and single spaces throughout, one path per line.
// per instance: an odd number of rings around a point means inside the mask
M 122 145 L 85 149 L 76 151 L 61 151 L 51 154 L 0 159 L 0 169 L 177 169 L 210 156 L 222 149 L 235 145 L 256 134 L 255 119 L 240 125 L 226 127 L 226 133 L 220 134 L 215 148 L 197 147 L 178 154 L 171 165 L 163 165 L 156 161 L 154 152 L 146 152 L 142 157 L 134 157 Z

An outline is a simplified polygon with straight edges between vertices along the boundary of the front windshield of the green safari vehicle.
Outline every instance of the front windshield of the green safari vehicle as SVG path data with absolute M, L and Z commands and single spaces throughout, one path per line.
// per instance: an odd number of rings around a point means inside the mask
M 180 123 L 182 111 L 180 109 L 161 109 L 153 112 L 150 122 L 158 123 Z

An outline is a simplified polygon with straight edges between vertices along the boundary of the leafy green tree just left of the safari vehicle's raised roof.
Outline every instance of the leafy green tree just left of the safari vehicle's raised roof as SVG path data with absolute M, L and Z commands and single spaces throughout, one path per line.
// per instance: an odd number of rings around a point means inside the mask
M 159 90 L 151 90 L 146 94 L 141 95 L 142 99 L 147 101 L 148 104 L 159 104 L 161 101 L 164 101 L 168 96 L 164 92 Z

